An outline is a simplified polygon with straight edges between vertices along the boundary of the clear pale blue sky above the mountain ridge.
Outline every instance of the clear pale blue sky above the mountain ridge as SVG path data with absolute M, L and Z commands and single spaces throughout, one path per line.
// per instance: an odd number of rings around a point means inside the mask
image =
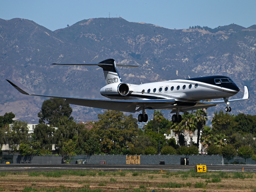
M 64 28 L 83 19 L 119 17 L 165 28 L 200 25 L 215 28 L 235 23 L 256 24 L 255 0 L 1 0 L 0 18 L 33 20 L 50 30 Z

